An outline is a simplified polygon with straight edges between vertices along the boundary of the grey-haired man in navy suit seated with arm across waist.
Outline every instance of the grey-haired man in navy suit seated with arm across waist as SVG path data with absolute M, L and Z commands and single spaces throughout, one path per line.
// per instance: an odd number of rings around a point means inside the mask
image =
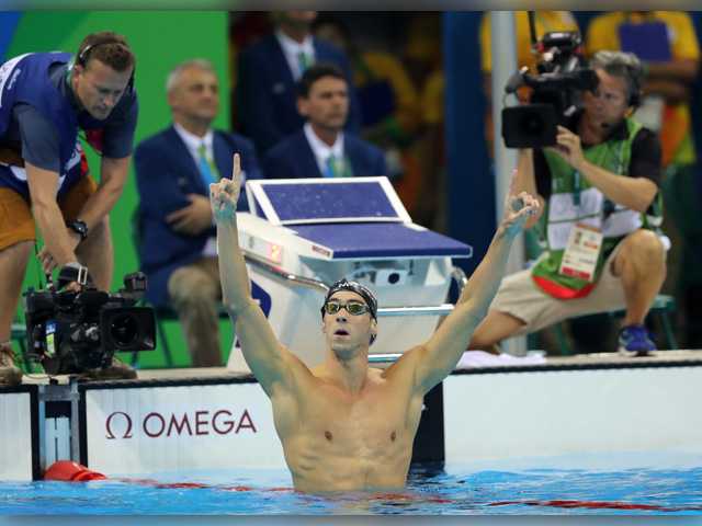
M 261 173 L 249 140 L 211 127 L 219 94 L 208 61 L 178 66 L 168 77 L 167 92 L 172 126 L 139 144 L 134 156 L 141 201 L 138 250 L 149 281 L 147 298 L 156 307 L 176 309 L 193 366 L 220 366 L 220 285 L 210 183 L 231 172 L 235 152 L 241 155 L 248 179 Z

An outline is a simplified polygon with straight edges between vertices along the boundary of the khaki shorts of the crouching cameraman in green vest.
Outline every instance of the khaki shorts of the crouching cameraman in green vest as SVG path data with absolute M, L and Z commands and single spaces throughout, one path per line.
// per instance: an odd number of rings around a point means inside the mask
M 619 247 L 610 254 L 592 291 L 584 298 L 556 299 L 532 279 L 531 271 L 517 272 L 502 279 L 490 310 L 507 312 L 526 323 L 513 335 L 529 334 L 568 318 L 625 308 L 622 281 L 612 274 Z

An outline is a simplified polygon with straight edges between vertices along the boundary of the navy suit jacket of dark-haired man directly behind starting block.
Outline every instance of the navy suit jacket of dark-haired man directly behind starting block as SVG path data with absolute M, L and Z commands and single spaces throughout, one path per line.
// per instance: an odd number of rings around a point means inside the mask
M 387 175 L 383 151 L 365 140 L 343 134 L 343 155 L 351 162 L 355 176 Z M 268 179 L 322 176 L 302 129 L 268 152 L 263 160 L 263 173 Z

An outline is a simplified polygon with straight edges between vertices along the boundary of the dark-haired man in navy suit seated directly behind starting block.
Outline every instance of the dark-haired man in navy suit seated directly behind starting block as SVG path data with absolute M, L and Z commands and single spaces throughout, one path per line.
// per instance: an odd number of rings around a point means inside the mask
M 349 96 L 339 68 L 318 64 L 307 69 L 298 82 L 297 108 L 307 122 L 268 152 L 267 178 L 387 175 L 380 148 L 343 133 Z

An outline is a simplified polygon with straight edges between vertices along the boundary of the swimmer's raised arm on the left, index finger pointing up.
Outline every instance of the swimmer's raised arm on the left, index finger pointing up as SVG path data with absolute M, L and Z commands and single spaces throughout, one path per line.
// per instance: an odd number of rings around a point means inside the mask
M 247 364 L 269 397 L 293 385 L 291 363 L 296 358 L 275 338 L 261 308 L 251 297 L 249 275 L 239 248 L 237 199 L 241 164 L 234 156 L 231 179 L 210 185 L 210 203 L 217 225 L 222 298 L 229 311 Z

